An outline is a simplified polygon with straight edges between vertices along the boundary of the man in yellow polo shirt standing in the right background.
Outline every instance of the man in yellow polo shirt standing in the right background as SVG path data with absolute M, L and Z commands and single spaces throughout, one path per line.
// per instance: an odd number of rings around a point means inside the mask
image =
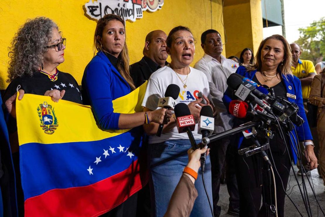
M 300 60 L 300 46 L 296 43 L 290 44 L 291 47 L 291 53 L 292 53 L 292 61 L 293 65 L 291 66 L 292 74 L 297 76 L 300 81 L 301 81 L 301 88 L 302 88 L 302 94 L 303 94 L 303 101 L 304 101 L 304 108 L 305 112 L 307 114 L 308 109 L 307 109 L 307 101 L 309 98 L 309 91 L 310 91 L 310 86 L 311 83 L 314 79 L 314 76 L 316 75 L 316 70 L 314 63 L 310 60 Z M 317 146 L 315 148 L 315 154 L 318 156 L 318 141 L 317 141 L 317 131 L 314 128 L 310 129 L 312 132 L 312 136 L 314 138 L 314 145 Z M 308 169 L 308 162 L 307 159 L 304 157 L 304 151 L 305 151 L 305 145 L 303 142 L 299 142 L 300 150 L 302 151 L 302 164 L 303 167 L 305 168 L 306 173 L 305 175 L 310 175 L 310 171 Z M 299 161 L 297 162 L 297 167 L 299 171 L 297 172 L 298 175 L 301 176 L 302 171 L 300 171 L 300 164 Z

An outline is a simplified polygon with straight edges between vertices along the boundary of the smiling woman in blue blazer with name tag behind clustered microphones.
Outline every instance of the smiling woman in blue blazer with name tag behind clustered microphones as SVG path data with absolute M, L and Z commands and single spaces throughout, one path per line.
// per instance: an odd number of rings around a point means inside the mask
M 314 154 L 314 146 L 312 145 L 312 136 L 304 111 L 301 83 L 300 80 L 291 73 L 291 51 L 287 40 L 281 35 L 272 35 L 264 39 L 256 54 L 256 63 L 254 65 L 240 66 L 236 73 L 247 77 L 258 85 L 266 85 L 274 89 L 275 96 L 284 97 L 289 102 L 299 106 L 298 115 L 304 120 L 304 124 L 300 127 L 294 126 L 297 131 L 298 138 L 295 132 L 289 133 L 284 131 L 284 140 L 280 136 L 279 128 L 273 127 L 272 132 L 274 137 L 270 139 L 270 149 L 267 154 L 271 160 L 275 172 L 275 182 L 277 191 L 278 215 L 284 215 L 284 198 L 285 190 L 288 184 L 288 178 L 291 168 L 291 161 L 297 161 L 298 152 L 294 141 L 305 142 L 305 156 L 310 163 L 310 170 L 317 168 L 317 158 Z M 229 102 L 230 96 L 226 92 L 224 102 Z M 226 103 L 227 104 L 227 103 Z M 249 121 L 249 118 L 243 120 L 237 119 L 244 123 Z M 290 136 L 289 136 L 290 135 Z M 259 135 L 257 135 L 258 139 Z M 242 136 L 237 136 L 233 145 L 240 149 L 251 146 L 253 142 L 250 139 L 245 139 Z M 286 146 L 287 143 L 287 146 Z M 266 204 L 275 204 L 273 183 L 269 188 L 267 181 L 267 166 L 261 155 L 243 156 L 235 154 L 237 163 L 237 182 L 240 194 L 240 216 L 266 216 L 270 210 Z M 283 189 L 284 188 L 284 189 Z M 263 192 L 263 206 L 260 206 L 261 195 Z M 270 201 L 272 198 L 272 201 Z M 261 207 L 261 209 L 260 209 Z

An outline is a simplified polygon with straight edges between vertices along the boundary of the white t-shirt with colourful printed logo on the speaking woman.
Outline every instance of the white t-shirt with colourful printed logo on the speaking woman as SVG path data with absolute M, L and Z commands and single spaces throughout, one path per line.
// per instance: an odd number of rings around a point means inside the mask
M 157 107 L 159 98 L 165 96 L 165 91 L 170 84 L 176 84 L 180 88 L 180 92 L 176 102 L 184 102 L 188 104 L 198 99 L 198 93 L 202 92 L 205 96 L 210 98 L 209 83 L 206 75 L 203 72 L 190 68 L 188 79 L 186 82 L 187 88 L 183 87 L 183 83 L 179 77 L 184 81 L 187 75 L 180 75 L 169 67 L 164 66 L 154 72 L 147 84 L 146 94 L 144 96 L 142 106 L 150 110 L 160 109 Z M 198 134 L 198 124 L 195 125 L 195 130 L 192 131 L 195 139 L 202 139 L 202 135 Z M 149 143 L 164 142 L 166 140 L 188 139 L 187 133 L 178 133 L 177 127 L 173 128 L 167 133 L 162 133 L 161 137 L 156 135 L 149 136 Z

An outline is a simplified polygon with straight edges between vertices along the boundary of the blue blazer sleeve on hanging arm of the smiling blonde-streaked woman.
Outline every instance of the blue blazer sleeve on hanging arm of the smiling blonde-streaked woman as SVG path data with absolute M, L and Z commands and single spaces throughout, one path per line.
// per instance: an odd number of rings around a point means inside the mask
M 303 104 L 301 82 L 300 82 L 299 78 L 297 78 L 296 76 L 294 76 L 293 82 L 294 82 L 294 87 L 295 87 L 295 92 L 296 92 L 296 103 L 299 107 L 298 115 L 305 120 L 303 125 L 301 125 L 300 127 L 297 127 L 298 140 L 299 141 L 312 140 L 313 137 L 310 132 L 310 128 L 308 125 L 308 121 L 307 121 L 307 117 L 306 117 L 306 113 L 305 113 L 305 109 L 304 109 L 304 104 Z

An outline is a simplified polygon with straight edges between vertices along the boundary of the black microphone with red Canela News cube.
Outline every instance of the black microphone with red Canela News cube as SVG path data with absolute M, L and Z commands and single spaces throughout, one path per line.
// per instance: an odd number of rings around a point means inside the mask
M 198 148 L 192 131 L 195 129 L 195 120 L 194 116 L 191 115 L 187 104 L 181 102 L 176 104 L 175 108 L 176 124 L 178 133 L 187 132 L 189 141 L 191 142 L 193 150 Z

